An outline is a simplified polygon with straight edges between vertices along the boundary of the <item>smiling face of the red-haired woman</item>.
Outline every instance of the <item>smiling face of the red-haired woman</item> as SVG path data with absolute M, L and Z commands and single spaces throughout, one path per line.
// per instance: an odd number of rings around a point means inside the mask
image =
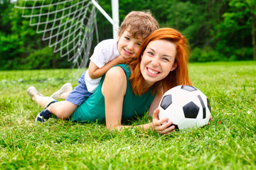
M 174 64 L 176 44 L 168 40 L 149 42 L 142 55 L 140 69 L 146 84 L 152 86 L 156 81 L 164 79 L 169 72 L 176 69 Z

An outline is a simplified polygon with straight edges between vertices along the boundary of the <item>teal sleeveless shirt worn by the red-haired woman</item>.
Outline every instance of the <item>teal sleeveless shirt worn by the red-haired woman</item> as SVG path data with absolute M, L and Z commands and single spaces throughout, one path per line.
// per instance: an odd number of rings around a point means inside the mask
M 129 81 L 131 71 L 126 64 L 117 65 L 124 69 L 127 76 L 127 91 L 124 96 L 124 103 L 122 108 L 122 120 L 127 120 L 133 118 L 137 115 L 144 115 L 148 111 L 150 104 L 154 99 L 154 95 L 151 95 L 150 89 L 142 96 L 135 95 L 132 91 L 132 85 Z M 95 90 L 94 94 L 87 98 L 87 100 L 82 103 L 75 110 L 73 115 L 70 116 L 70 120 L 76 120 L 78 122 L 87 122 L 96 120 L 105 120 L 105 97 L 102 95 L 102 83 L 105 76 L 102 77 L 99 86 Z M 113 89 L 114 90 L 114 89 Z

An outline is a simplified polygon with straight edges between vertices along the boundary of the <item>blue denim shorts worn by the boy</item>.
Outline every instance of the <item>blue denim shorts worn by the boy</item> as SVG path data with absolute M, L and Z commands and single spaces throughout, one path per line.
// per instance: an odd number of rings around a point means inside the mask
M 87 71 L 85 71 L 87 72 Z M 85 72 L 82 73 L 80 79 L 78 79 L 78 86 L 75 86 L 75 89 L 68 94 L 68 97 L 65 99 L 71 103 L 74 103 L 80 106 L 84 101 L 87 100 L 89 96 L 92 95 L 87 91 L 87 86 L 85 84 Z

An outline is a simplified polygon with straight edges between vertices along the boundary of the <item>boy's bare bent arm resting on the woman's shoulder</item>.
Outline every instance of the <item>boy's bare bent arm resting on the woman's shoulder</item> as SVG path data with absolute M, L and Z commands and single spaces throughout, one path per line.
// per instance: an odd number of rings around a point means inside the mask
M 107 64 L 105 64 L 102 68 L 97 67 L 96 64 L 94 64 L 93 62 L 90 62 L 89 64 L 89 68 L 88 68 L 88 73 L 91 79 L 97 79 L 102 77 L 107 70 L 109 70 L 111 67 L 117 65 L 117 64 L 122 64 L 124 62 L 127 62 L 129 60 L 124 59 L 124 57 L 122 57 L 121 55 L 119 55 L 119 57 L 115 58 L 114 60 L 108 62 Z

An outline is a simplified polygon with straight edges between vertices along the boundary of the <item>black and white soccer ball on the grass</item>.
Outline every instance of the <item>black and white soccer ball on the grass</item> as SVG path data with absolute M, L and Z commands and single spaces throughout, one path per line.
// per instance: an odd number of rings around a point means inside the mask
M 194 86 L 176 86 L 166 91 L 159 103 L 159 119 L 169 118 L 177 130 L 188 130 L 207 125 L 210 102 Z M 164 123 L 163 123 L 164 124 Z

